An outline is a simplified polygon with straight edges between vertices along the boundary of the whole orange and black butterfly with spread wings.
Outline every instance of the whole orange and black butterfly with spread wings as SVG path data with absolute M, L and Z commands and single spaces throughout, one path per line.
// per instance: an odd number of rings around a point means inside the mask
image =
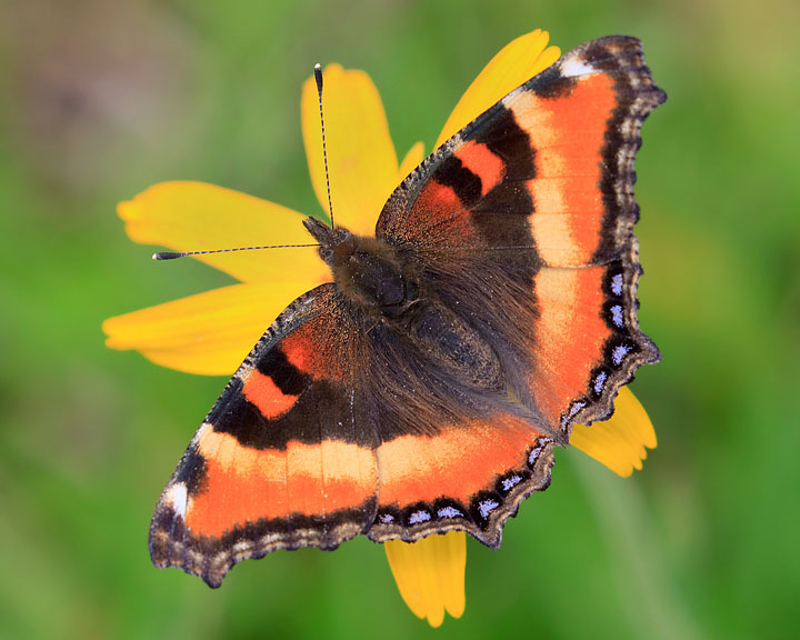
M 277 549 L 463 530 L 497 548 L 574 422 L 660 353 L 637 320 L 640 128 L 666 94 L 634 38 L 566 53 L 439 147 L 374 237 L 303 221 L 333 282 L 228 382 L 150 526 L 219 587 Z

